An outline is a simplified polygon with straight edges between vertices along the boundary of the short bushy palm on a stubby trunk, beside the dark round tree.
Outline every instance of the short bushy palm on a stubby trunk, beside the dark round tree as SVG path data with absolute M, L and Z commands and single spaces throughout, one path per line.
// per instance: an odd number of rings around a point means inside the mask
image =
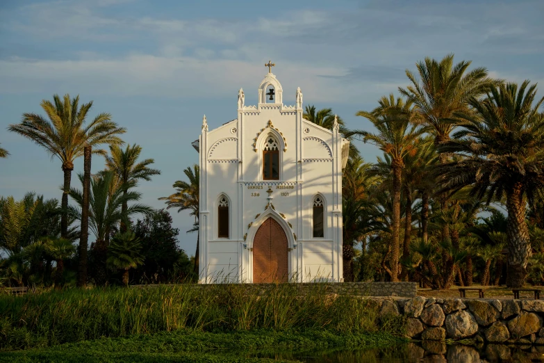
M 133 232 L 113 236 L 108 252 L 108 265 L 123 270 L 123 284 L 129 286 L 129 270 L 143 264 L 142 244 Z

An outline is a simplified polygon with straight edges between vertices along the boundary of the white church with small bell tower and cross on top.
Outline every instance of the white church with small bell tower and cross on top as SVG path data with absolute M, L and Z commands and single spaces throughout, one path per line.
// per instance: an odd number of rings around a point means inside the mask
M 343 281 L 342 169 L 349 141 L 283 104 L 268 63 L 258 104 L 199 140 L 199 282 Z

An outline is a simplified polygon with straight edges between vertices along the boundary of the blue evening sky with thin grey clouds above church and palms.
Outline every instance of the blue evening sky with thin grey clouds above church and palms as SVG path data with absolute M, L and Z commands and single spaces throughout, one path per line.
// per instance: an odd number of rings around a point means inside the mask
M 306 105 L 370 129 L 356 111 L 406 86 L 404 70 L 425 56 L 454 53 L 492 76 L 531 79 L 542 97 L 543 14 L 541 0 L 0 0 L 0 143 L 11 153 L 0 159 L 0 195 L 60 199 L 58 159 L 6 131 L 22 113 L 43 114 L 41 100 L 55 93 L 93 100 L 93 117 L 111 113 L 128 129 L 124 140 L 162 171 L 139 188 L 160 208 L 157 198 L 198 161 L 190 143 L 202 115 L 211 128 L 236 118 L 240 87 L 255 104 L 268 59 L 284 103 L 294 104 L 299 86 Z M 378 154 L 361 150 L 368 161 Z M 95 156 L 93 171 L 103 166 Z M 72 181 L 78 186 L 75 173 Z M 191 218 L 172 216 L 181 247 L 194 254 Z

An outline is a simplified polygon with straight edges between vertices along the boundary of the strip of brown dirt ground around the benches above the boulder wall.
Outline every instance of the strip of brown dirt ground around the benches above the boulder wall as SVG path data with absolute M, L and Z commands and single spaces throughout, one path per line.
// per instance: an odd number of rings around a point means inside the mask
M 481 288 L 484 289 L 484 298 L 495 298 L 495 299 L 512 299 L 513 292 L 512 289 L 509 289 L 505 286 L 484 286 L 480 284 L 472 284 L 470 288 Z M 420 289 L 418 288 L 418 296 L 426 296 L 427 298 L 459 298 L 460 286 L 451 287 L 448 290 L 433 290 L 433 289 Z M 541 289 L 542 287 L 532 287 L 527 286 L 527 289 Z M 477 290 L 468 290 L 466 291 L 466 298 L 478 298 Z M 520 299 L 532 299 L 534 298 L 533 291 L 520 291 Z M 541 299 L 544 299 L 544 289 L 541 291 Z

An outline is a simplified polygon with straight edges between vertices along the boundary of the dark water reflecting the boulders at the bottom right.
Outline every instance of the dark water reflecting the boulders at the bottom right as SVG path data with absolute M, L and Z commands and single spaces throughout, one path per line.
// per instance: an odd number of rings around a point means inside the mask
M 317 352 L 260 352 L 246 357 L 268 357 L 277 360 L 299 360 L 306 363 L 479 363 L 479 362 L 544 362 L 544 346 L 488 344 L 480 348 L 461 344 L 447 345 L 438 341 L 409 343 L 390 348 L 368 350 L 323 350 Z

